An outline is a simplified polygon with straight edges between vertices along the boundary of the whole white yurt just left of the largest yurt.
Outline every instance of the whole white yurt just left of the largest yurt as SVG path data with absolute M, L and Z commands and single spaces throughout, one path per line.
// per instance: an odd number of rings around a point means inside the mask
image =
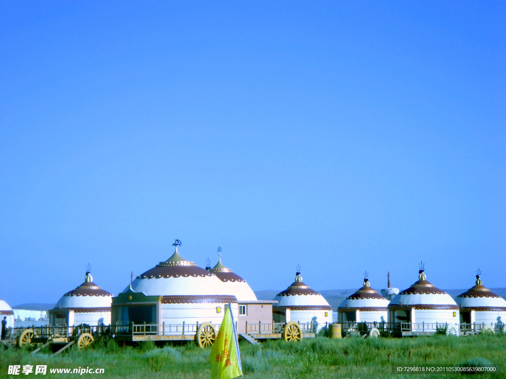
M 112 294 L 93 282 L 88 269 L 85 281 L 63 295 L 55 307 L 49 310 L 50 325 L 110 325 L 111 301 Z

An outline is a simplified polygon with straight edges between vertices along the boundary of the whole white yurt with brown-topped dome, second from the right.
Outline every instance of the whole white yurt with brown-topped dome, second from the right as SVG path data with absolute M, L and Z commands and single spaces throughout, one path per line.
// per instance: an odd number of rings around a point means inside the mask
M 436 331 L 441 324 L 457 324 L 458 306 L 450 295 L 434 287 L 424 272 L 418 271 L 418 280 L 401 291 L 388 305 L 389 322 L 411 323 L 412 331 Z

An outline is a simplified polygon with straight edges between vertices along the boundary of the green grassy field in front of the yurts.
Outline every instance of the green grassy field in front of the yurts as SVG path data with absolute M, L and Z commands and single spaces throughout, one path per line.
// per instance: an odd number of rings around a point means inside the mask
M 77 374 L 50 374 L 50 368 L 104 368 L 104 374 L 84 373 L 83 377 L 178 378 L 210 377 L 209 349 L 194 344 L 157 347 L 152 343 L 120 347 L 114 341 L 98 341 L 93 349 L 69 349 L 52 357 L 48 348 L 41 353 L 9 349 L 0 351 L 0 377 L 39 377 L 8 375 L 13 364 L 48 365 L 43 377 L 75 377 Z M 498 366 L 497 374 L 478 377 L 506 377 L 506 336 L 417 337 L 380 339 L 305 339 L 301 343 L 269 341 L 261 345 L 240 343 L 246 378 L 423 378 L 461 377 L 460 374 L 398 374 L 394 365 L 462 365 L 474 360 Z

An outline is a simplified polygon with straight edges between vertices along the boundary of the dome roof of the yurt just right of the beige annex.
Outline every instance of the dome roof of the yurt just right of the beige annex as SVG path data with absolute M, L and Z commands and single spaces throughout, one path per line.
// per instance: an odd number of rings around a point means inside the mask
M 321 294 L 302 281 L 300 268 L 296 272 L 295 281 L 286 290 L 277 294 L 274 300 L 278 302 L 278 307 L 332 309 Z

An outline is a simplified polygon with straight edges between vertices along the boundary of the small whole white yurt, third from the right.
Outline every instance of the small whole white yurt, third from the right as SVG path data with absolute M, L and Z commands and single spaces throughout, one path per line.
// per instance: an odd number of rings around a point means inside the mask
M 361 289 L 348 296 L 338 308 L 338 322 L 387 322 L 390 301 L 369 285 L 367 273 Z

